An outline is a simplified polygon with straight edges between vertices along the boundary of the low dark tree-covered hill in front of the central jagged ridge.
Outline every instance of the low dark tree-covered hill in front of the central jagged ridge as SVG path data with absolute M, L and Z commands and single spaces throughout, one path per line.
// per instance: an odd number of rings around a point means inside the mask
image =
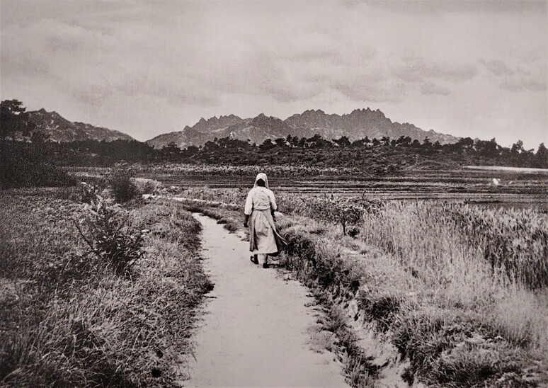
M 285 139 L 266 139 L 259 145 L 249 140 L 225 137 L 209 141 L 203 147 L 191 146 L 183 150 L 178 150 L 175 144 L 170 144 L 163 152 L 167 150 L 169 158 L 173 161 L 194 159 L 236 164 L 256 164 L 261 161 L 268 163 L 269 160 L 276 164 L 314 164 L 328 161 L 333 166 L 340 166 L 348 163 L 360 164 L 360 161 L 370 161 L 377 157 L 387 159 L 388 164 L 396 165 L 401 164 L 396 160 L 398 157 L 411 160 L 414 156 L 419 156 L 437 161 L 454 161 L 457 164 L 548 168 L 548 150 L 544 143 L 540 144 L 535 153 L 534 149 L 524 149 L 521 140 L 508 148 L 501 147 L 496 139 L 474 140 L 470 137 L 459 139 L 456 143 L 440 144 L 431 142 L 428 137 L 423 142 L 409 136 L 400 136 L 398 139 L 386 136 L 380 139 L 364 137 L 350 142 L 346 136 L 328 140 L 321 135 L 309 138 L 289 135 Z M 244 151 L 245 153 L 242 153 Z

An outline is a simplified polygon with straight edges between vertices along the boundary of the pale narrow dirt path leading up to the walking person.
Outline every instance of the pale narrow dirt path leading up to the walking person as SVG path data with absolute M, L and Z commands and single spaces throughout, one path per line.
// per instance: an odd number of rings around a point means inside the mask
M 204 264 L 215 289 L 205 306 L 187 387 L 348 387 L 333 353 L 310 350 L 306 287 L 249 261 L 249 244 L 209 217 Z

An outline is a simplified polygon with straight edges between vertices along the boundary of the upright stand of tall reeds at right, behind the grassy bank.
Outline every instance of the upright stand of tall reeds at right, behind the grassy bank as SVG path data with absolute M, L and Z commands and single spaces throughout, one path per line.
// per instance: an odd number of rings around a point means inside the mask
M 362 239 L 438 278 L 466 277 L 484 261 L 501 282 L 548 286 L 548 221 L 534 210 L 387 202 L 363 216 Z

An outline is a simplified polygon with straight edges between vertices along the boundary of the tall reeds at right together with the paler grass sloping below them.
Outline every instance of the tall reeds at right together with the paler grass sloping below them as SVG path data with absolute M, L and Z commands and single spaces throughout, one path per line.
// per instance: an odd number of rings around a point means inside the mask
M 546 236 L 530 210 L 389 202 L 363 216 L 361 239 L 397 258 L 439 306 L 485 314 L 513 343 L 548 354 Z

